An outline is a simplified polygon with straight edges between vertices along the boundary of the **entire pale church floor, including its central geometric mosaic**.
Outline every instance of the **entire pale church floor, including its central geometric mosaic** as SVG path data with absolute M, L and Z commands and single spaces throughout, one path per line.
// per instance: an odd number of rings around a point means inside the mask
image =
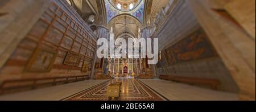
M 27 92 L 0 96 L 0 101 L 106 101 L 106 86 L 123 82 L 121 100 L 147 101 L 237 101 L 238 94 L 226 93 L 197 86 L 179 84 L 159 79 L 115 78 L 114 80 L 86 80 L 57 85 Z M 148 87 L 149 86 L 149 87 Z

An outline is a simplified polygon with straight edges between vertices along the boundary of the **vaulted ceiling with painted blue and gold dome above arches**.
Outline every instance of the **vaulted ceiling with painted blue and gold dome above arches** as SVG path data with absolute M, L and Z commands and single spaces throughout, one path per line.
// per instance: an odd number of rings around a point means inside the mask
M 138 37 L 140 30 L 152 26 L 155 16 L 163 9 L 170 0 L 67 0 L 71 2 L 77 13 L 90 26 L 104 26 L 113 28 L 115 38 L 121 36 Z M 115 5 L 129 5 L 134 3 L 134 9 L 119 10 Z M 95 18 L 90 20 L 90 16 Z

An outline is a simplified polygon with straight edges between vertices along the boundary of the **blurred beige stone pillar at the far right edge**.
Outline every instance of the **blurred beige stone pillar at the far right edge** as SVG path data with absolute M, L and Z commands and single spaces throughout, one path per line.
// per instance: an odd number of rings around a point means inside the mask
M 220 1 L 211 2 L 217 4 Z M 248 35 L 236 24 L 228 22 L 227 19 L 213 12 L 212 6 L 207 1 L 186 1 L 186 3 L 191 7 L 193 14 L 204 28 L 210 42 L 216 48 L 230 75 L 240 88 L 240 99 L 255 100 L 255 37 Z M 254 8 L 251 10 L 251 14 L 255 16 L 255 1 L 224 2 L 222 9 L 226 10 L 226 7 L 235 7 L 231 9 L 236 10 L 241 9 L 239 11 L 240 15 L 248 15 L 250 13 L 246 11 Z M 237 11 L 235 12 L 238 14 Z M 238 19 L 237 16 L 233 17 L 236 20 Z M 248 19 L 254 19 L 252 24 L 255 24 L 255 18 L 248 18 L 247 16 L 240 16 L 239 18 L 243 18 L 244 22 L 246 19 L 247 22 L 250 21 Z M 255 34 L 255 27 L 252 30 Z

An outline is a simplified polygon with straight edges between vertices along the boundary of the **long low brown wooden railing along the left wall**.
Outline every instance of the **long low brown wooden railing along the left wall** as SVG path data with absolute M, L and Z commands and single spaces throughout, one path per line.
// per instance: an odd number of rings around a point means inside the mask
M 0 86 L 0 94 L 19 92 L 30 89 L 43 88 L 67 84 L 70 82 L 88 80 L 89 76 L 49 77 L 49 78 L 27 78 L 22 80 L 6 80 Z

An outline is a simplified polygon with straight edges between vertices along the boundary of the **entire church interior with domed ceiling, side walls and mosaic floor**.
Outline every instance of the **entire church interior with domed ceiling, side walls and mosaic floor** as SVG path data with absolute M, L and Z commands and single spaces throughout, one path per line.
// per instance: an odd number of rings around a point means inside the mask
M 1 101 L 255 101 L 255 0 L 1 0 L 0 24 Z M 98 58 L 111 36 L 158 63 Z

